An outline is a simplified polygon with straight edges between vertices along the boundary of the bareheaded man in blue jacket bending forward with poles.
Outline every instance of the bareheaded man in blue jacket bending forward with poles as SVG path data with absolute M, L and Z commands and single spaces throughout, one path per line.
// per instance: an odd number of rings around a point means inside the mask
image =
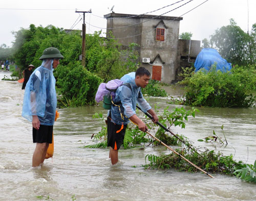
M 141 131 L 148 128 L 143 121 L 136 115 L 136 105 L 138 104 L 142 111 L 147 111 L 158 121 L 158 117 L 150 104 L 143 98 L 140 88 L 145 88 L 150 80 L 150 72 L 140 67 L 135 73 L 135 79 L 130 82 L 131 88 L 127 85 L 121 85 L 117 88 L 114 103 L 120 102 L 119 106 L 111 106 L 110 115 L 108 116 L 108 146 L 112 165 L 118 162 L 118 149 L 123 143 L 125 129 L 129 119 L 135 122 Z M 120 110 L 119 110 L 120 109 Z

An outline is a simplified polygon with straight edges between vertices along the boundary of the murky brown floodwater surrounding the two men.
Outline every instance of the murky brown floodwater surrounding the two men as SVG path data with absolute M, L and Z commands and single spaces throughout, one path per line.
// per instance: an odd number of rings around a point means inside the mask
M 0 71 L 0 79 L 9 72 Z M 35 144 L 32 125 L 21 117 L 22 84 L 0 80 L 0 200 L 256 200 L 255 184 L 245 183 L 234 176 L 176 170 L 144 170 L 146 154 L 169 153 L 162 146 L 120 149 L 120 162 L 112 166 L 109 149 L 83 149 L 93 144 L 91 135 L 101 129 L 101 122 L 92 118 L 95 112 L 106 114 L 101 106 L 58 109 L 54 125 L 54 156 L 38 168 L 31 168 Z M 172 96 L 180 88 L 166 89 Z M 169 105 L 166 98 L 150 98 L 160 107 Z M 179 106 L 180 107 L 180 106 Z M 190 107 L 185 107 L 189 109 Z M 206 146 L 233 154 L 235 160 L 253 164 L 256 160 L 255 108 L 198 108 L 196 118 L 189 118 L 185 129 L 173 128 L 185 135 L 195 146 Z M 140 113 L 140 117 L 143 115 Z M 198 142 L 221 134 L 221 125 L 228 141 L 226 147 Z M 42 199 L 45 200 L 46 198 Z

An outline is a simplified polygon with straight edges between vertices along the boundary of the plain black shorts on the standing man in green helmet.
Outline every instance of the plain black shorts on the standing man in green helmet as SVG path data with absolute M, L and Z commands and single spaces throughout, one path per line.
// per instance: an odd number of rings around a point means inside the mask
M 53 126 L 41 125 L 39 129 L 33 127 L 33 143 L 52 144 Z

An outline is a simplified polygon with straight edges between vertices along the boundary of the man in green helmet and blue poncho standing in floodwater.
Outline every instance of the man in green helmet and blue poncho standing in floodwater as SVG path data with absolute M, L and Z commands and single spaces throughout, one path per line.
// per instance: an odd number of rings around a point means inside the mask
M 57 98 L 53 69 L 63 58 L 57 48 L 47 48 L 39 58 L 42 64 L 32 73 L 26 84 L 22 116 L 32 122 L 33 142 L 36 143 L 32 166 L 44 162 L 52 143 Z

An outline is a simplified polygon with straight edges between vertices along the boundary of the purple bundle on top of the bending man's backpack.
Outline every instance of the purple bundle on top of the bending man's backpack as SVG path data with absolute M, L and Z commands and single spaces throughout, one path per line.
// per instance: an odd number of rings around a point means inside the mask
M 116 90 L 120 85 L 122 85 L 122 81 L 119 79 L 110 80 L 108 83 L 101 83 L 98 87 L 98 91 L 95 96 L 96 102 L 100 102 L 103 100 L 103 96 L 107 96 L 109 94 L 112 95 L 112 98 L 115 98 L 115 92 L 111 92 L 109 90 Z M 108 89 L 107 89 L 108 88 Z

